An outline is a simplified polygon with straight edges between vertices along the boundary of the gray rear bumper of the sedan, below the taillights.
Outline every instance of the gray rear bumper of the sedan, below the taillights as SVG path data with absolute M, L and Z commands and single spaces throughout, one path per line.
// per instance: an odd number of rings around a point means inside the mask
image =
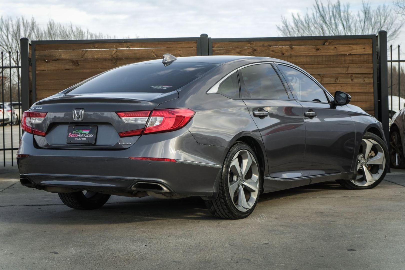
M 128 192 L 137 182 L 154 182 L 178 195 L 215 196 L 222 155 L 227 149 L 199 145 L 187 129 L 170 133 L 163 144 L 162 136 L 155 136 L 160 142 L 153 143 L 151 134 L 119 151 L 38 149 L 32 134 L 25 133 L 18 153 L 30 156 L 17 158 L 20 178 L 29 179 L 33 186 L 106 193 Z M 213 157 L 204 157 L 202 153 L 210 150 Z M 177 162 L 133 160 L 130 156 L 164 157 Z

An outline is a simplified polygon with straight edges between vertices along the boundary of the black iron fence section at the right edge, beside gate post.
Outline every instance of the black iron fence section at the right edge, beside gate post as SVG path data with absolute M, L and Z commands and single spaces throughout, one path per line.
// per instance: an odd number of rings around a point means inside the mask
M 395 48 L 394 48 L 395 50 Z M 401 82 L 401 77 L 405 76 L 404 74 L 404 69 L 401 68 L 401 63 L 404 63 L 405 60 L 401 60 L 401 47 L 398 45 L 396 47 L 397 53 L 398 53 L 398 59 L 397 60 L 392 60 L 393 57 L 393 52 L 392 52 L 392 45 L 390 46 L 390 59 L 387 61 L 388 62 L 388 91 L 390 93 L 390 117 L 394 115 L 396 112 L 401 110 L 401 108 L 404 107 L 405 105 L 405 92 L 404 92 L 404 87 L 405 87 L 405 78 L 402 78 Z M 394 54 L 396 52 L 394 51 Z M 402 85 L 401 85 L 402 83 Z M 397 103 L 398 102 L 398 103 Z

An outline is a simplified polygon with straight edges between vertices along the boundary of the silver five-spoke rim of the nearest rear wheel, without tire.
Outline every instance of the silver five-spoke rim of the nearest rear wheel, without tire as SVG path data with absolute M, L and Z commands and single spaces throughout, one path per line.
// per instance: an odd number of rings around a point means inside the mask
M 259 168 L 249 151 L 237 152 L 229 167 L 229 195 L 234 206 L 241 212 L 252 208 L 259 191 Z

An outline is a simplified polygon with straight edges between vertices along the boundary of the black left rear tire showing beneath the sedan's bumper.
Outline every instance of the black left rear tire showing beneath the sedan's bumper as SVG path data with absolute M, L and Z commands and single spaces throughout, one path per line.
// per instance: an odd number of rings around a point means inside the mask
M 91 210 L 103 206 L 111 195 L 87 191 L 85 194 L 82 191 L 71 193 L 58 193 L 60 200 L 66 206 L 74 209 Z

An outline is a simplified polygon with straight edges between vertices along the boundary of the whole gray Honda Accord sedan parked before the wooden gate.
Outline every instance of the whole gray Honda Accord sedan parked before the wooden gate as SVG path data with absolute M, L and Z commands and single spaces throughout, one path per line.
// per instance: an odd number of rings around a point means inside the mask
M 350 99 L 274 58 L 166 54 L 24 112 L 21 184 L 75 209 L 111 195 L 200 196 L 226 219 L 249 216 L 261 193 L 330 180 L 373 188 L 388 169 L 386 138 Z

